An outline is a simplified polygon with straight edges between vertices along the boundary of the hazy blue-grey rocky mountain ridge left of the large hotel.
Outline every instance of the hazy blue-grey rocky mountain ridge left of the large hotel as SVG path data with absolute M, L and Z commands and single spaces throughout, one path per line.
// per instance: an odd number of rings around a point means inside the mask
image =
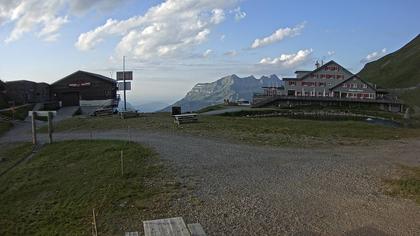
M 282 86 L 283 81 L 276 75 L 238 77 L 237 75 L 225 76 L 211 83 L 196 84 L 187 95 L 171 106 L 181 106 L 183 111 L 196 111 L 206 106 L 223 103 L 225 99 L 237 101 L 252 100 L 254 93 L 261 92 L 264 86 Z M 171 106 L 163 109 L 169 111 Z

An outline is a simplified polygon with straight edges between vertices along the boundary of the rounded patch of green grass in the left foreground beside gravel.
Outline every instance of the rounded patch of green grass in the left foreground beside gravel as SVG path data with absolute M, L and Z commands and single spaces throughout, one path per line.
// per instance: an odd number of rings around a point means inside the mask
M 0 235 L 90 235 L 93 208 L 98 235 L 140 230 L 142 220 L 165 214 L 174 196 L 175 182 L 163 170 L 156 154 L 137 144 L 47 145 L 0 177 Z

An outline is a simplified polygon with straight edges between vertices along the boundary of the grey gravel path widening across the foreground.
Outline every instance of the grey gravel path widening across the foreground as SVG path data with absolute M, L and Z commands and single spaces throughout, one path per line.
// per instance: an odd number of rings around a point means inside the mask
M 90 133 L 58 133 L 57 140 Z M 420 207 L 382 192 L 398 163 L 420 165 L 420 141 L 368 147 L 264 148 L 170 133 L 96 132 L 153 147 L 192 189 L 171 210 L 208 235 L 420 235 Z M 1 142 L 30 140 L 8 133 Z M 45 140 L 45 137 L 41 138 Z

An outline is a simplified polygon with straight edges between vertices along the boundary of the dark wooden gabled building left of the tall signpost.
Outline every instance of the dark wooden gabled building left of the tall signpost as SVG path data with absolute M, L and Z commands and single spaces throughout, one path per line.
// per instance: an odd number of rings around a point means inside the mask
M 61 106 L 109 106 L 117 98 L 117 82 L 103 75 L 76 71 L 51 84 L 51 94 Z

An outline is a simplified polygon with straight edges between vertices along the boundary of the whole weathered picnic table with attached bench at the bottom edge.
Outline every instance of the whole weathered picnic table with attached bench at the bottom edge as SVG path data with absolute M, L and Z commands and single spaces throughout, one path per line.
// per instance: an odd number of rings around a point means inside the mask
M 143 221 L 143 226 L 145 236 L 206 236 L 200 224 L 187 227 L 182 217 Z

